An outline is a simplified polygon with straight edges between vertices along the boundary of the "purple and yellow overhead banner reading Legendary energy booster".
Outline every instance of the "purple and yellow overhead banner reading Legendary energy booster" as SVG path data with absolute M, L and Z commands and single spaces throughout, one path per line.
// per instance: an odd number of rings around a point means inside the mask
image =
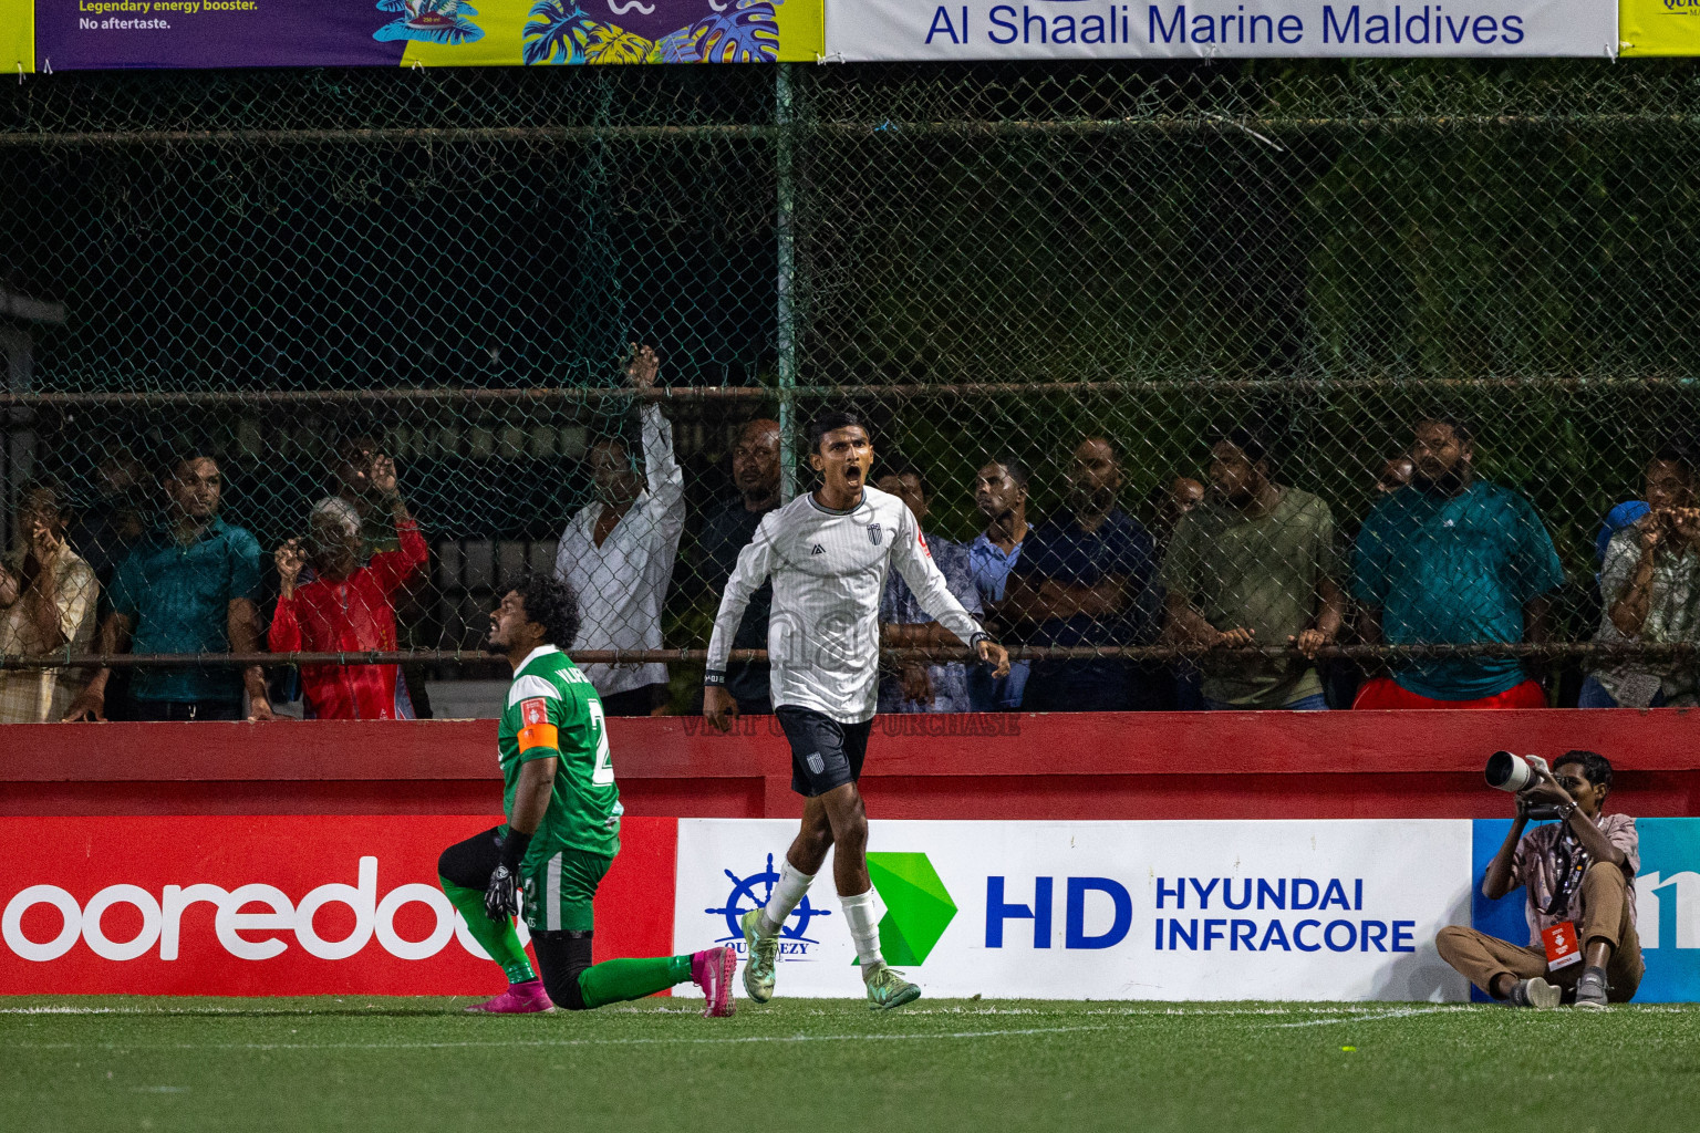
M 31 7 L 32 5 L 32 7 Z M 0 0 L 22 70 L 816 59 L 821 0 Z M 15 19 L 14 19 L 15 14 Z

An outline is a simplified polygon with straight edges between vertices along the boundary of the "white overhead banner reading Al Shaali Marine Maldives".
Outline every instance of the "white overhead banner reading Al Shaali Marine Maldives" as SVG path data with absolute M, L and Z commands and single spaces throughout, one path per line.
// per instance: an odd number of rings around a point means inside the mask
M 1610 0 L 828 0 L 826 54 L 876 59 L 1613 56 Z

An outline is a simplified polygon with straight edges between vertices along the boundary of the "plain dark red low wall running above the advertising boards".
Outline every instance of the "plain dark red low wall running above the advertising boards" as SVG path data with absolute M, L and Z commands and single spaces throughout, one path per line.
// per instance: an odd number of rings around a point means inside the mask
M 10 724 L 0 815 L 496 814 L 495 720 Z M 794 817 L 774 717 L 610 719 L 627 814 Z M 1605 753 L 1613 805 L 1700 814 L 1700 712 L 1141 712 L 879 717 L 882 819 L 1488 819 L 1498 747 Z M 495 819 L 493 819 L 495 820 Z

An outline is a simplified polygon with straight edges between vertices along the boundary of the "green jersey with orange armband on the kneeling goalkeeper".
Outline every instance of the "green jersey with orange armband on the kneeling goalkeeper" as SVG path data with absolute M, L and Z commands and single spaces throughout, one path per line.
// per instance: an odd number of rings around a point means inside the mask
M 614 856 L 620 851 L 620 792 L 614 785 L 602 698 L 573 661 L 544 645 L 513 671 L 496 736 L 502 812 L 513 815 L 520 764 L 556 756 L 554 792 L 525 853 L 537 868 L 559 849 Z

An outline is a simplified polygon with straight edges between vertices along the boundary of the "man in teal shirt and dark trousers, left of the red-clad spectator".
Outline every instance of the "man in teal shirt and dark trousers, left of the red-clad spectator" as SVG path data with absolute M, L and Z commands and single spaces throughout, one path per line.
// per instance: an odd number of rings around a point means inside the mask
M 218 518 L 218 460 L 190 455 L 165 474 L 163 527 L 144 535 L 112 576 L 112 613 L 99 652 L 258 652 L 260 544 Z M 71 702 L 66 720 L 104 720 L 110 669 Z M 133 720 L 270 720 L 260 666 L 148 668 L 131 681 Z

